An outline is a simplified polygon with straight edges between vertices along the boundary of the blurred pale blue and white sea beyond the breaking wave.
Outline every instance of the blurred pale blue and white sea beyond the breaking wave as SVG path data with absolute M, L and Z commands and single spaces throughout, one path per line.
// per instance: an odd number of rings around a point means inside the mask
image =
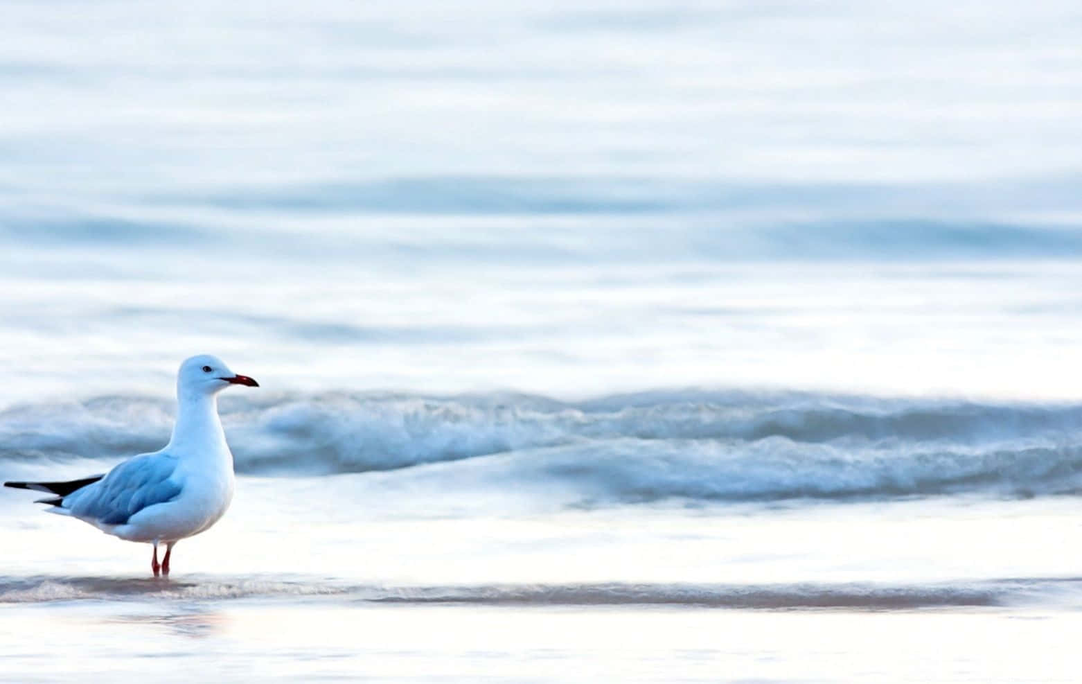
M 4 13 L 10 400 L 1074 394 L 1072 3 Z

